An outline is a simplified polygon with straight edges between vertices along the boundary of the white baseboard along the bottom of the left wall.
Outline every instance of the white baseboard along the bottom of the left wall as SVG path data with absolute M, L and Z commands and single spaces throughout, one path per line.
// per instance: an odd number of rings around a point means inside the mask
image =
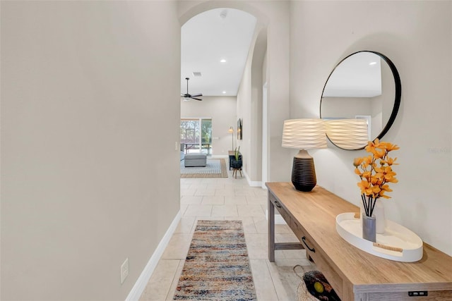
M 174 217 L 171 225 L 169 225 L 167 232 L 165 233 L 165 235 L 163 235 L 162 240 L 160 240 L 159 244 L 157 245 L 157 248 L 155 249 L 153 255 L 150 257 L 148 264 L 146 264 L 135 285 L 133 285 L 133 288 L 131 289 L 129 295 L 126 297 L 126 301 L 136 301 L 140 299 L 141 294 L 143 294 L 143 291 L 149 282 L 150 276 L 152 276 L 155 270 L 155 266 L 157 266 L 157 263 L 160 260 L 160 257 L 162 257 L 162 254 L 165 251 L 169 240 L 171 239 L 174 231 L 176 231 L 181 217 L 182 212 L 179 210 L 179 212 L 177 212 L 176 216 Z

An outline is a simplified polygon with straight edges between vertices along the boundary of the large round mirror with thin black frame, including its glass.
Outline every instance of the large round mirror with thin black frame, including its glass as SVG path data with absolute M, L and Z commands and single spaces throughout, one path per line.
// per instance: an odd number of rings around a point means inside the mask
M 327 124 L 328 120 L 347 120 L 346 127 L 350 120 L 364 119 L 367 140 L 381 139 L 396 119 L 401 93 L 400 76 L 390 59 L 375 51 L 358 51 L 340 61 L 326 80 L 320 118 L 326 119 Z M 342 149 L 362 149 L 367 145 L 343 143 L 335 138 L 345 137 L 346 132 L 342 128 L 340 135 L 329 135 L 328 139 Z M 350 139 L 352 136 L 345 138 L 349 142 Z

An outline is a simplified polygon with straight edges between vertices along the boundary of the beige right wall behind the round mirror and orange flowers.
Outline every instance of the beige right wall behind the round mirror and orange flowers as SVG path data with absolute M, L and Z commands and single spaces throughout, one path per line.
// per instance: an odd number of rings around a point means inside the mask
M 451 1 L 292 1 L 291 118 L 319 117 L 323 85 L 348 54 L 388 56 L 402 81 L 396 122 L 383 140 L 400 145 L 399 183 L 386 215 L 452 255 Z M 319 185 L 358 204 L 349 152 L 329 145 L 311 152 Z M 290 159 L 287 159 L 290 160 Z

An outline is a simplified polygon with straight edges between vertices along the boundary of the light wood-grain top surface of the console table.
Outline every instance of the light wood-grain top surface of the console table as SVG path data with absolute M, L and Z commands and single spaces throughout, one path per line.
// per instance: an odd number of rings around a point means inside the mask
M 408 290 L 432 290 L 432 285 L 434 290 L 452 290 L 452 257 L 448 254 L 424 243 L 424 254 L 418 262 L 376 257 L 350 245 L 336 231 L 335 217 L 344 212 L 359 212 L 359 207 L 319 186 L 311 192 L 297 191 L 291 183 L 266 186 L 355 290 L 375 291 L 378 285 L 383 291 L 400 283 Z

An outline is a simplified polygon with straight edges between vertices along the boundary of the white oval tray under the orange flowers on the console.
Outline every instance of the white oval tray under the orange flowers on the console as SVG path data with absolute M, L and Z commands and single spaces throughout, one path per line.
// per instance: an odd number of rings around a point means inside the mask
M 375 256 L 397 262 L 417 262 L 422 259 L 423 243 L 420 237 L 393 221 L 386 220 L 385 233 L 377 233 L 376 242 L 362 238 L 362 226 L 359 219 L 355 218 L 355 212 L 336 216 L 336 230 L 347 242 Z

